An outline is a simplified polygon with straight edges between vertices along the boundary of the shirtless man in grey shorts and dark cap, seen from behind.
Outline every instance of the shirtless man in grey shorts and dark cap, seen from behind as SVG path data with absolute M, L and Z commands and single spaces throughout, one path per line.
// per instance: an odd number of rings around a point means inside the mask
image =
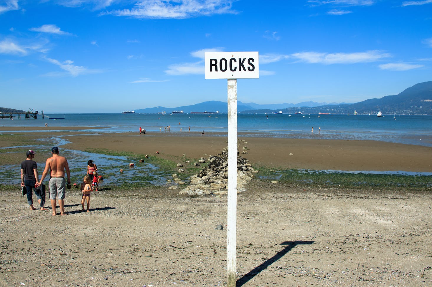
M 58 203 L 60 205 L 60 215 L 65 215 L 64 213 L 64 197 L 66 196 L 66 185 L 64 180 L 64 171 L 66 170 L 67 174 L 67 183 L 70 184 L 70 171 L 69 165 L 67 164 L 67 159 L 64 156 L 58 155 L 58 147 L 53 147 L 51 149 L 51 156 L 47 159 L 45 164 L 44 173 L 42 174 L 41 184 L 44 178 L 48 175 L 48 171 L 50 171 L 50 199 L 51 199 L 51 207 L 53 209 L 53 215 L 56 215 L 55 206 L 56 206 L 56 198 L 58 195 Z

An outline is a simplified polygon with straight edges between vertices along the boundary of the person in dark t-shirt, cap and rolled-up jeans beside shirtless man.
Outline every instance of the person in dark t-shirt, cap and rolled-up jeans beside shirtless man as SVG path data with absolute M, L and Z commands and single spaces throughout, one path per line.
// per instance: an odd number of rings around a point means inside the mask
M 39 185 L 38 165 L 33 160 L 35 158 L 35 152 L 33 150 L 28 150 L 25 155 L 27 159 L 21 162 L 21 186 L 25 186 L 27 190 L 27 202 L 29 203 L 30 210 L 37 209 L 33 206 L 33 191 L 36 194 L 41 210 L 47 210 L 44 208 L 45 200 L 42 200 L 40 194 L 41 190 L 35 189 L 35 187 Z

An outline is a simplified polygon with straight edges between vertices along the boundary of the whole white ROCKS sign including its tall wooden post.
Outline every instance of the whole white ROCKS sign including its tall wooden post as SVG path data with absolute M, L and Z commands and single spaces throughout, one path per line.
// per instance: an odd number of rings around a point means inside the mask
M 237 230 L 237 78 L 258 78 L 258 52 L 205 53 L 206 79 L 228 79 L 227 287 L 235 287 Z

